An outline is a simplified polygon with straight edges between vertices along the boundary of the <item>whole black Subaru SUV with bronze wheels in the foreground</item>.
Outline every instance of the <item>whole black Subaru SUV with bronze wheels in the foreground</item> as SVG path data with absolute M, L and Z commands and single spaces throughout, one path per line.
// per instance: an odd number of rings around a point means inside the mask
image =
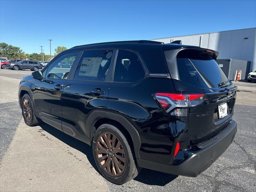
M 141 168 L 195 177 L 237 131 L 237 87 L 217 56 L 146 40 L 76 46 L 21 80 L 22 115 L 28 126 L 43 121 L 91 145 L 115 184 Z

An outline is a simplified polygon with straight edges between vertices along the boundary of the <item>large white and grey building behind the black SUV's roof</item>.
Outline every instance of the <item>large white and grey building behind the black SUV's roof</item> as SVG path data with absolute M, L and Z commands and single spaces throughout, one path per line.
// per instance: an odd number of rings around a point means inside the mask
M 164 43 L 181 40 L 184 45 L 200 46 L 220 52 L 218 59 L 240 59 L 251 62 L 256 69 L 256 28 L 202 33 L 154 39 Z

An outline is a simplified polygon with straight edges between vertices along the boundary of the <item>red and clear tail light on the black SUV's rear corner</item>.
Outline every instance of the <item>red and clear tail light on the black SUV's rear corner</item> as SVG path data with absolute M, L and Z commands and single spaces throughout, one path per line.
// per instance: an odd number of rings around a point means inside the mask
M 156 100 L 167 113 L 173 116 L 188 116 L 188 108 L 204 99 L 204 94 L 156 93 Z

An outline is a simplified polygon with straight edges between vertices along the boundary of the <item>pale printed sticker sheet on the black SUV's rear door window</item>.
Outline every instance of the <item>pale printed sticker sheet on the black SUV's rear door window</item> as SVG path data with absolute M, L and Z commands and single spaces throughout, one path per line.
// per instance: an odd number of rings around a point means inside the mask
M 102 57 L 83 58 L 83 61 L 79 70 L 79 76 L 97 77 L 101 61 L 102 61 Z

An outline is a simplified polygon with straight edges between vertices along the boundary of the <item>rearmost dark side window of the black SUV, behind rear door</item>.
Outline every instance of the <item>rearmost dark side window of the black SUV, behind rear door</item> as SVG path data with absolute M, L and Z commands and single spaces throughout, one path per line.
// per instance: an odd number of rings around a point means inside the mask
M 124 50 L 118 51 L 114 81 L 136 82 L 145 76 L 145 71 L 137 55 Z

